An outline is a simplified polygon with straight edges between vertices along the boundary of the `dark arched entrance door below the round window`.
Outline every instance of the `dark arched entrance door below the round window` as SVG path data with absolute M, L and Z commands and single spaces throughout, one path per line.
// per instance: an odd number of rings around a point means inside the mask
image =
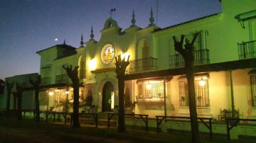
M 111 111 L 111 95 L 114 92 L 114 87 L 111 82 L 106 82 L 102 91 L 102 112 Z

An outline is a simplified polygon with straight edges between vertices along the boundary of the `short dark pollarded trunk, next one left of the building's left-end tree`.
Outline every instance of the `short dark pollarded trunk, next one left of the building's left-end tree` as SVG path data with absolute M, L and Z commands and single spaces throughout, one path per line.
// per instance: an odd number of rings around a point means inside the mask
M 17 92 L 17 119 L 22 120 L 22 94 L 25 88 L 26 82 L 19 83 L 16 82 L 16 92 Z

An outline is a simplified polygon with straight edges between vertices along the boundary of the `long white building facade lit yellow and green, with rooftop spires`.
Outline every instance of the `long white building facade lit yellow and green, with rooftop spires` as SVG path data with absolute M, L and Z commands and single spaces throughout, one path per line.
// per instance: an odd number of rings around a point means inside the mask
M 41 110 L 63 110 L 73 102 L 72 83 L 63 65 L 79 66 L 80 105 L 95 105 L 96 112 L 118 105 L 118 81 L 114 57 L 130 55 L 125 72 L 126 113 L 189 116 L 184 60 L 174 49 L 173 36 L 191 40 L 195 46 L 195 88 L 199 117 L 219 120 L 220 111 L 239 110 L 239 117 L 256 118 L 256 3 L 222 1 L 222 13 L 159 28 L 151 11 L 148 26 L 141 28 L 132 16 L 122 30 L 112 17 L 101 38 L 75 48 L 66 43 L 38 51 L 42 78 Z M 185 43 L 185 42 L 184 42 Z M 232 101 L 233 96 L 233 101 Z M 71 107 L 72 109 L 72 107 Z M 82 108 L 81 108 L 82 110 Z

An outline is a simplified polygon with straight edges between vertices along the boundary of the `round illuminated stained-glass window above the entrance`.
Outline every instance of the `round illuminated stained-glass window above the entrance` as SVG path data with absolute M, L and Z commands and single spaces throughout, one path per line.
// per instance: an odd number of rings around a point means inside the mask
M 115 57 L 114 47 L 110 44 L 105 45 L 101 51 L 101 60 L 104 64 L 109 64 Z

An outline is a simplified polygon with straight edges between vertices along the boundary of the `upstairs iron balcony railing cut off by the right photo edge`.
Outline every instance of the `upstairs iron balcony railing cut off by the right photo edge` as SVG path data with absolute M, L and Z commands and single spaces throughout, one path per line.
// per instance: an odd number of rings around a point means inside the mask
M 239 60 L 256 57 L 256 40 L 238 43 Z

